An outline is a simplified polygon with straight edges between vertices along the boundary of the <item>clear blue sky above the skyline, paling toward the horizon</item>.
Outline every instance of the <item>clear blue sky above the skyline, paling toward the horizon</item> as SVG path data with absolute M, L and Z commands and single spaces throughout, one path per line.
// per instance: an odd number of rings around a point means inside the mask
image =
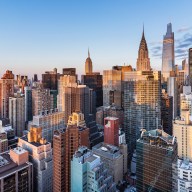
M 143 23 L 151 66 L 161 69 L 167 23 L 175 32 L 176 63 L 192 46 L 191 0 L 0 0 L 0 75 L 40 75 L 76 67 L 88 47 L 94 71 L 135 67 Z

